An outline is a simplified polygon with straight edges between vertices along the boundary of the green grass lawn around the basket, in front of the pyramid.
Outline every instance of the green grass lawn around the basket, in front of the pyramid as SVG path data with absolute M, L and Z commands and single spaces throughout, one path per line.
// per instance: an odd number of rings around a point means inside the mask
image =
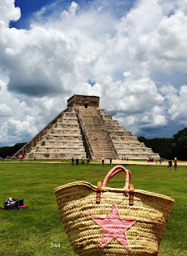
M 135 189 L 169 195 L 175 199 L 161 242 L 159 256 L 186 256 L 186 166 L 169 171 L 166 166 L 125 166 Z M 71 166 L 62 163 L 0 163 L 0 206 L 7 197 L 23 198 L 21 210 L 0 210 L 0 255 L 75 255 L 63 230 L 54 188 L 68 182 L 103 180 L 109 165 Z M 122 188 L 124 174 L 108 186 Z M 56 247 L 51 248 L 51 244 Z M 99 256 L 99 255 L 98 255 Z

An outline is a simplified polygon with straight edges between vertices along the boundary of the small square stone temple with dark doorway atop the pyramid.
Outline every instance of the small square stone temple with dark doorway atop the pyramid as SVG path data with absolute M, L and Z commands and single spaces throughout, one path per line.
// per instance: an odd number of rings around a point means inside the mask
M 67 101 L 67 106 L 84 106 L 88 107 L 99 107 L 99 97 L 97 96 L 84 96 L 84 95 L 76 95 L 72 96 Z

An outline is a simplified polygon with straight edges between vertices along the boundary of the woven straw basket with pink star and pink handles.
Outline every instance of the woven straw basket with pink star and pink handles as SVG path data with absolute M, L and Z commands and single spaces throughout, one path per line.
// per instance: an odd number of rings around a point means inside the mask
M 106 187 L 119 172 L 125 187 Z M 58 210 L 78 255 L 157 255 L 174 200 L 162 194 L 133 190 L 131 174 L 115 166 L 104 182 L 72 182 L 54 190 Z

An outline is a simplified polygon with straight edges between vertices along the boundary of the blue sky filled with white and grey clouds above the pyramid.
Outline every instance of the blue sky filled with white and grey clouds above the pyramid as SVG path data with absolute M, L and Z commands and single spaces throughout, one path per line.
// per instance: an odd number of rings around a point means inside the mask
M 0 0 L 0 146 L 27 142 L 73 94 L 125 130 L 187 126 L 187 0 Z

